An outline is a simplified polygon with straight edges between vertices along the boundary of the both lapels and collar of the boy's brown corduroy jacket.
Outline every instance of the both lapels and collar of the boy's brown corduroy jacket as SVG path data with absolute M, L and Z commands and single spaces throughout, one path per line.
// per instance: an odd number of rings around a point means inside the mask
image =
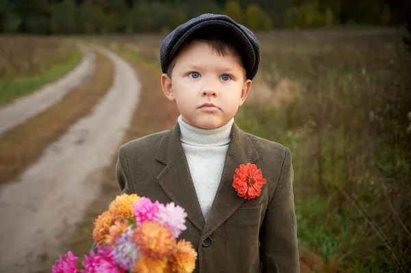
M 240 164 L 248 162 L 253 164 L 260 157 L 247 134 L 234 123 L 223 174 L 207 222 L 204 221 L 197 193 L 192 183 L 186 155 L 180 142 L 178 123 L 162 138 L 155 159 L 166 165 L 164 170 L 158 174 L 158 183 L 176 205 L 186 210 L 188 220 L 195 224 L 200 231 L 203 231 L 201 235 L 201 239 L 203 239 L 227 220 L 245 201 L 244 198 L 237 195 L 232 187 L 236 168 Z

